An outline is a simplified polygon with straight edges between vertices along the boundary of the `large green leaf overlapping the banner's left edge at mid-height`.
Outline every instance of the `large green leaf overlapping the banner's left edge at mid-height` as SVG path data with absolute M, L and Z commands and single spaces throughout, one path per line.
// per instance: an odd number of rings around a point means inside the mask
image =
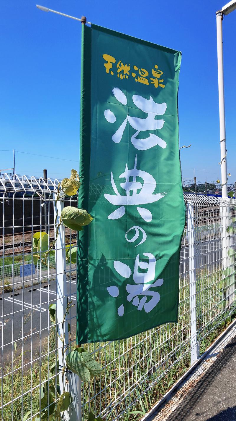
M 66 206 L 61 211 L 61 218 L 65 226 L 75 231 L 81 231 L 84 225 L 90 224 L 93 220 L 87 210 L 73 208 L 72 206 Z

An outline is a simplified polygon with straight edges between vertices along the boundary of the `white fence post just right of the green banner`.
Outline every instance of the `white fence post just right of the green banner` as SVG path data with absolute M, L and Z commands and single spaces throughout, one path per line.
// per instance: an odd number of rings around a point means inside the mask
M 197 311 L 196 311 L 196 267 L 194 248 L 194 204 L 187 203 L 187 232 L 189 242 L 189 298 L 190 298 L 190 325 L 191 325 L 191 365 L 199 357 L 199 344 L 197 341 Z

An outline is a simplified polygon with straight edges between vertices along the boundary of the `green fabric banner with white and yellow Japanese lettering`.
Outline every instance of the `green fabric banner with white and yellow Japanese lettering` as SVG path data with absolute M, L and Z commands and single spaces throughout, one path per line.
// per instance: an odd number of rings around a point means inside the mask
M 181 53 L 82 25 L 77 343 L 177 322 Z

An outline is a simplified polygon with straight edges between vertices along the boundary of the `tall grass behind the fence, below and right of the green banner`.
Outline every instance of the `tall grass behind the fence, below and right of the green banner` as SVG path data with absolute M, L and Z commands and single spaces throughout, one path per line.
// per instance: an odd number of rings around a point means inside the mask
M 210 272 L 211 270 L 211 272 Z M 232 297 L 232 290 L 233 297 Z M 218 267 L 197 272 L 197 330 L 200 353 L 236 317 L 235 283 Z M 124 341 L 87 346 L 105 366 L 105 376 L 84 384 L 84 419 L 90 410 L 108 421 L 138 420 L 190 366 L 189 278 L 180 280 L 178 324 L 167 324 Z M 94 396 L 96 395 L 96 398 Z M 127 410 L 127 408 L 130 408 Z

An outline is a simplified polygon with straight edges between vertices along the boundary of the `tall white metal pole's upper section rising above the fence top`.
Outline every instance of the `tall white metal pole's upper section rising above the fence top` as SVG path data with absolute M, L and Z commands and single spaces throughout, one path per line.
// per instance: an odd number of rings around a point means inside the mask
M 227 163 L 226 163 L 226 153 L 227 152 L 226 152 L 226 121 L 225 121 L 222 20 L 223 20 L 222 11 L 216 12 L 218 89 L 219 89 L 219 114 L 220 114 L 221 184 L 222 184 L 222 197 L 228 197 Z

